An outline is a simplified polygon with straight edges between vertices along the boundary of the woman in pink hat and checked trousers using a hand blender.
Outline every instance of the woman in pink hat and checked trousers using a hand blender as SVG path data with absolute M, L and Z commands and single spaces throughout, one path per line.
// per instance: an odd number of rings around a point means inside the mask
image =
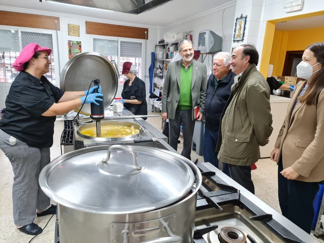
M 41 169 L 50 163 L 56 115 L 82 105 L 96 103 L 103 96 L 87 91 L 64 92 L 49 82 L 44 74 L 52 63 L 52 50 L 30 43 L 13 66 L 20 73 L 12 82 L 6 97 L 6 108 L 0 120 L 0 148 L 10 160 L 14 172 L 12 201 L 14 223 L 24 233 L 37 235 L 42 229 L 33 223 L 38 217 L 55 214 L 56 205 L 41 190 Z M 100 88 L 99 88 L 100 89 Z

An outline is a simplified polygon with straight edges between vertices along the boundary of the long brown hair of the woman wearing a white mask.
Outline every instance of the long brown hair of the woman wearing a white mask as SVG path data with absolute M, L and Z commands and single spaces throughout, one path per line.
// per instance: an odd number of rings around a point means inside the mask
M 316 72 L 312 82 L 305 91 L 305 94 L 300 97 L 299 101 L 306 103 L 307 105 L 315 105 L 317 103 L 319 93 L 324 88 L 324 42 L 315 42 L 307 46 L 306 49 L 309 49 L 314 53 L 317 63 L 320 63 L 318 65 L 322 65 L 322 67 L 318 72 Z

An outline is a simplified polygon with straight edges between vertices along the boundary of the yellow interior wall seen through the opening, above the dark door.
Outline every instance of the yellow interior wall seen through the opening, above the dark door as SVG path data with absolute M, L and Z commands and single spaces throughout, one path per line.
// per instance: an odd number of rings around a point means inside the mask
M 292 31 L 275 30 L 269 64 L 272 75 L 281 76 L 284 70 L 286 51 L 305 50 L 309 44 L 324 41 L 324 27 Z

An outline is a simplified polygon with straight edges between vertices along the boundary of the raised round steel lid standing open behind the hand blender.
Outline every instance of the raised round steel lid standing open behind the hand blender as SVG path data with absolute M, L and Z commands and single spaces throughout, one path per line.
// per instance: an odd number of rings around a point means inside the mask
M 77 54 L 65 64 L 60 78 L 61 89 L 64 91 L 87 90 L 94 78 L 100 79 L 106 109 L 116 96 L 119 72 L 115 62 L 110 62 L 97 52 Z M 75 110 L 79 111 L 80 108 Z M 80 113 L 90 115 L 90 104 L 85 104 Z

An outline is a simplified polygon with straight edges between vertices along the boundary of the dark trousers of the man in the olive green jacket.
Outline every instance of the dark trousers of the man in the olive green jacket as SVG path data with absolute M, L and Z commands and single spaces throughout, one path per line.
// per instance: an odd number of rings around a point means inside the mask
M 239 166 L 223 163 L 222 171 L 254 194 L 254 184 L 251 179 L 251 166 Z

